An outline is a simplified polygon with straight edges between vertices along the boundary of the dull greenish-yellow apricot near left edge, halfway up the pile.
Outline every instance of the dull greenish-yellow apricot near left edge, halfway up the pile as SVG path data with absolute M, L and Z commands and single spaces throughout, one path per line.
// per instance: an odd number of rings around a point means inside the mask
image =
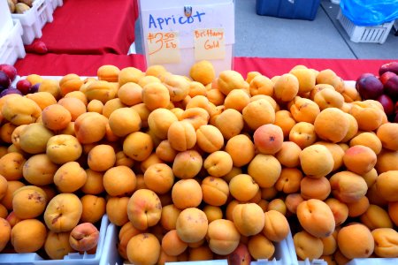
M 19 147 L 29 154 L 44 153 L 47 142 L 52 136 L 54 136 L 54 133 L 44 125 L 30 124 L 19 134 Z

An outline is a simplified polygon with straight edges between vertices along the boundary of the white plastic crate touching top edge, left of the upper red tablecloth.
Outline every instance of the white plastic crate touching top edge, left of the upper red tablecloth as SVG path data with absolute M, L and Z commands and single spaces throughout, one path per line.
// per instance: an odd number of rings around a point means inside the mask
M 22 41 L 31 44 L 35 38 L 42 37 L 42 27 L 52 22 L 52 13 L 45 0 L 34 0 L 32 8 L 23 14 L 11 14 L 12 19 L 19 19 L 24 33 Z

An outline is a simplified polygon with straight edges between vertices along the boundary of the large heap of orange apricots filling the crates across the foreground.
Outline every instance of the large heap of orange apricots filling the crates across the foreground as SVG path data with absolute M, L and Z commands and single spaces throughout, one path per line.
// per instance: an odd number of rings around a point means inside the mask
M 244 78 L 209 61 L 188 77 L 4 75 L 0 251 L 93 251 L 106 214 L 132 264 L 249 264 L 290 232 L 298 260 L 398 257 L 398 124 L 380 78 Z

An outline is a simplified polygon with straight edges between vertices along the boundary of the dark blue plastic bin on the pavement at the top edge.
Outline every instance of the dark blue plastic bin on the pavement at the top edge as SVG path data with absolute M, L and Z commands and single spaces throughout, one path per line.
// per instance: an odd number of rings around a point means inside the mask
M 256 13 L 283 19 L 314 20 L 320 0 L 256 0 Z

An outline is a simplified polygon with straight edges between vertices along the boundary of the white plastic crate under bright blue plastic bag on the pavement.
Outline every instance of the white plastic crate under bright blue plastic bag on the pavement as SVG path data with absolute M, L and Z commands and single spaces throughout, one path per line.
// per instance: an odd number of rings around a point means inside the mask
M 370 42 L 383 44 L 387 40 L 391 28 L 394 25 L 394 20 L 378 26 L 362 27 L 356 26 L 339 10 L 337 20 L 340 21 L 341 26 L 346 30 L 349 40 L 351 42 Z

